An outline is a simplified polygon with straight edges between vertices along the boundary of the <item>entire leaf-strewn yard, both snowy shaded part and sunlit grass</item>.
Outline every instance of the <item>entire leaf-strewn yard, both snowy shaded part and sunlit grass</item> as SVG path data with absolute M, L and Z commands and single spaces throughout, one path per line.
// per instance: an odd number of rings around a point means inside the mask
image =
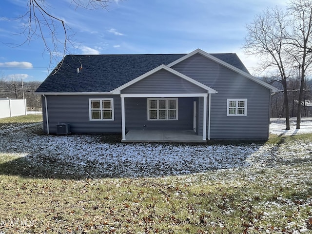
M 309 121 L 285 131 L 273 119 L 280 137 L 252 144 L 108 143 L 2 124 L 0 217 L 35 225 L 0 233 L 311 233 L 311 135 L 284 137 L 311 133 Z

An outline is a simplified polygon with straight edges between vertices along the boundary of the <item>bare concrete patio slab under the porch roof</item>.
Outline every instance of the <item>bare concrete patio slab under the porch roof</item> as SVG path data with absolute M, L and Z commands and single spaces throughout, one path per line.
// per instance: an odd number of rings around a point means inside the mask
M 121 142 L 193 142 L 205 143 L 206 139 L 194 131 L 130 130 Z

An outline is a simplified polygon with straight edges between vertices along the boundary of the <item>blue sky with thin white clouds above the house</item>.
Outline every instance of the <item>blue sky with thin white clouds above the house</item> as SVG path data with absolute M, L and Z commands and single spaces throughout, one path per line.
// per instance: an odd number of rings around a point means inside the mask
M 41 39 L 22 44 L 23 21 L 8 19 L 25 14 L 27 2 L 1 0 L 0 78 L 43 81 L 62 58 L 51 61 Z M 259 75 L 254 71 L 256 59 L 241 48 L 245 26 L 265 8 L 286 4 L 286 0 L 111 0 L 106 10 L 86 10 L 71 5 L 71 0 L 45 2 L 49 13 L 65 20 L 75 33 L 72 54 L 170 54 L 200 48 L 236 53 L 254 76 Z M 58 34 L 62 39 L 61 28 Z

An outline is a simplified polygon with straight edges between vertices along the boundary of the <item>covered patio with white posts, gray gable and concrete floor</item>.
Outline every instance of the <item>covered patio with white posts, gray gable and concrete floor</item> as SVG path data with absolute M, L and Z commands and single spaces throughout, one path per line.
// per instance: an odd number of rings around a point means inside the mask
M 121 98 L 121 142 L 206 142 L 207 136 L 208 140 L 210 139 L 211 94 L 216 93 L 216 90 L 166 65 L 156 67 L 113 91 L 113 94 L 120 95 Z M 144 104 L 142 104 L 143 102 L 138 104 L 136 98 L 144 99 Z M 154 98 L 157 103 L 154 105 L 154 109 L 149 109 L 148 101 L 152 98 Z M 160 104 L 158 103 L 158 99 L 162 98 L 164 100 L 169 100 L 169 98 L 175 99 L 174 108 L 171 110 L 175 111 L 174 118 L 169 119 L 168 117 L 169 104 L 166 104 L 165 108 L 162 109 L 167 111 L 166 115 L 164 115 L 165 118 L 159 118 Z M 198 109 L 197 104 L 195 105 L 196 101 L 193 101 L 192 104 L 188 103 L 187 106 L 184 106 L 186 108 L 183 108 L 182 105 L 177 104 L 179 98 L 198 98 Z M 127 113 L 125 99 L 127 100 Z M 129 102 L 131 99 L 136 100 L 136 104 L 131 101 Z M 143 108 L 143 111 L 140 107 Z M 197 134 L 192 130 L 189 131 L 189 129 L 192 129 L 190 126 L 185 128 L 185 122 L 183 123 L 182 120 L 178 118 L 179 111 L 183 112 L 184 109 L 189 110 L 190 107 L 194 115 L 193 119 L 189 119 L 188 123 L 191 123 L 191 121 L 193 122 L 193 129 Z M 149 117 L 151 110 L 156 112 L 156 114 L 154 114 L 155 118 Z M 144 119 L 137 117 L 137 113 L 140 113 L 139 117 L 143 116 Z M 198 117 L 197 114 L 200 115 L 200 117 Z M 130 128 L 126 128 L 126 118 L 128 125 L 132 125 Z M 131 124 L 129 124 L 129 118 L 131 119 Z M 168 123 L 172 120 L 176 120 L 176 123 L 180 124 L 180 126 L 176 126 L 175 128 L 171 127 Z M 164 122 L 163 125 L 158 124 L 156 127 L 156 124 L 153 126 L 153 122 L 156 123 L 156 121 Z M 184 121 L 186 120 L 184 119 Z M 153 129 L 142 130 L 141 128 L 146 127 L 146 125 L 151 125 Z M 188 129 L 188 131 L 185 131 L 185 129 Z

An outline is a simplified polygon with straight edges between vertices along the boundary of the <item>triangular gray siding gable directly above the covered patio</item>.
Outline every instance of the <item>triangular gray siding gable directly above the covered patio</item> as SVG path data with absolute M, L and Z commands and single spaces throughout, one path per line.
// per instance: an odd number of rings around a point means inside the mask
M 178 94 L 207 93 L 205 89 L 180 78 L 166 70 L 160 70 L 151 76 L 123 89 L 121 94 Z

